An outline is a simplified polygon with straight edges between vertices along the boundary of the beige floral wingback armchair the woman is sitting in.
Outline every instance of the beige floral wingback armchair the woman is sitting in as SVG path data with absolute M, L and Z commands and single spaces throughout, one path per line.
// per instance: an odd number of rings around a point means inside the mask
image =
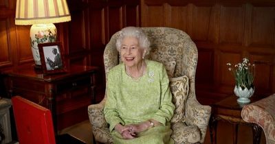
M 210 106 L 202 106 L 195 95 L 195 73 L 197 68 L 197 47 L 190 36 L 179 29 L 168 27 L 142 27 L 151 41 L 149 60 L 162 63 L 175 61 L 173 77 L 188 77 L 188 95 L 184 109 L 184 120 L 172 125 L 172 138 L 175 143 L 203 143 L 208 121 Z M 115 41 L 118 32 L 113 34 L 104 49 L 104 67 L 106 77 L 112 67 L 120 62 Z M 88 106 L 89 121 L 92 125 L 94 138 L 100 143 L 113 143 L 108 123 L 104 119 L 103 108 L 107 95 L 99 104 Z

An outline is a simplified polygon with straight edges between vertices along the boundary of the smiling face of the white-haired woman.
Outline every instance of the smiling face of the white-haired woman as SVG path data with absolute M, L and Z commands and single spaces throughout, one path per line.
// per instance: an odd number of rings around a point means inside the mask
M 140 67 L 142 64 L 142 49 L 135 37 L 125 37 L 122 40 L 120 56 L 127 67 Z

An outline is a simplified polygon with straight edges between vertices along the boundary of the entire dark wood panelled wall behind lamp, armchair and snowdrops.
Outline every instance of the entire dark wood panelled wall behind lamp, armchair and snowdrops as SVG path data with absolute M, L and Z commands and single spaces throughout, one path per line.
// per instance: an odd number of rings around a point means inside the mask
M 0 0 L 0 71 L 32 64 L 30 26 L 14 25 L 16 0 Z M 275 93 L 275 1 L 273 0 L 67 0 L 72 21 L 56 24 L 68 63 L 100 67 L 104 46 L 122 27 L 175 27 L 190 35 L 199 60 L 196 93 L 214 102 L 231 94 L 226 67 L 246 57 L 256 62 L 259 95 Z

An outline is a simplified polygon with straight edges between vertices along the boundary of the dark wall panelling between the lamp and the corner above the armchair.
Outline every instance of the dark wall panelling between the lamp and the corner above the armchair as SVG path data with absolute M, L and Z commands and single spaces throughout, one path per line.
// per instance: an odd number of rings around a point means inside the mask
M 104 47 L 122 27 L 140 26 L 140 1 L 67 0 L 72 21 L 63 25 L 64 43 L 71 63 L 100 67 L 99 91 L 104 92 Z M 67 37 L 65 37 L 67 36 Z M 103 95 L 100 95 L 101 97 Z

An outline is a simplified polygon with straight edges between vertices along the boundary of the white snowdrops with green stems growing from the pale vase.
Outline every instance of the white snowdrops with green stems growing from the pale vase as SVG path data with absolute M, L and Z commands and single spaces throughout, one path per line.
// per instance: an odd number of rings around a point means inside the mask
M 243 62 L 239 62 L 232 67 L 232 64 L 227 63 L 228 70 L 232 71 L 236 86 L 244 88 L 254 88 L 254 72 L 255 72 L 255 64 L 250 64 L 247 58 L 243 58 Z

